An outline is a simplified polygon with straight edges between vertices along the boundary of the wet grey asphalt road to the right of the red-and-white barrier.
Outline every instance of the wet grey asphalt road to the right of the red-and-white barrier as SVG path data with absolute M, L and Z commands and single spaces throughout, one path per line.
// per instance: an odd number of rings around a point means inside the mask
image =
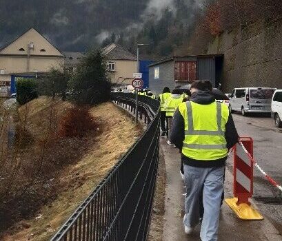
M 272 118 L 262 115 L 243 117 L 233 114 L 236 128 L 241 136 L 254 139 L 254 158 L 274 180 L 282 184 L 282 129 L 276 128 Z M 231 167 L 229 163 L 228 168 Z M 254 196 L 281 196 L 261 173 L 254 171 Z M 257 202 L 259 210 L 267 216 L 282 233 L 282 204 L 270 205 Z

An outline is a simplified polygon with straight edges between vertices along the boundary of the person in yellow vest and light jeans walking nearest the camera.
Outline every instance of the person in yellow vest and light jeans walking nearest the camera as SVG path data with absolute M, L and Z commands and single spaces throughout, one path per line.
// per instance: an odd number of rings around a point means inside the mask
M 170 140 L 181 149 L 186 185 L 185 233 L 199 223 L 203 195 L 202 241 L 218 240 L 225 160 L 239 139 L 228 106 L 217 103 L 210 81 L 194 81 L 191 98 L 174 114 Z

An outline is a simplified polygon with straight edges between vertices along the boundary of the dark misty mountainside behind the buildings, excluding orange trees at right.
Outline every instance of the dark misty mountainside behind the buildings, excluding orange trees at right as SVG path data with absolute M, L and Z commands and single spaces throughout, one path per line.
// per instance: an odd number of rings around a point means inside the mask
M 168 54 L 187 38 L 202 1 L 1 0 L 0 46 L 34 27 L 61 50 L 112 41 L 132 50 L 139 39 L 152 44 L 151 53 Z

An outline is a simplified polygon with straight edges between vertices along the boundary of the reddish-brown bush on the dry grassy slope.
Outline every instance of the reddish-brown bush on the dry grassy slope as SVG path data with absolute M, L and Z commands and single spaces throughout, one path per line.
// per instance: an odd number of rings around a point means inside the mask
M 89 112 L 89 107 L 72 107 L 66 116 L 61 119 L 59 136 L 83 137 L 90 130 L 96 130 L 97 123 Z

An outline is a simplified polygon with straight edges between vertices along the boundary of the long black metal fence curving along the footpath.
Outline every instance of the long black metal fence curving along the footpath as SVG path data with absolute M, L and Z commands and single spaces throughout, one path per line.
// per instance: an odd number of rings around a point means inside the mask
M 112 101 L 135 111 L 133 94 L 112 94 Z M 148 128 L 52 241 L 147 239 L 159 163 L 158 101 L 140 96 L 139 115 Z

